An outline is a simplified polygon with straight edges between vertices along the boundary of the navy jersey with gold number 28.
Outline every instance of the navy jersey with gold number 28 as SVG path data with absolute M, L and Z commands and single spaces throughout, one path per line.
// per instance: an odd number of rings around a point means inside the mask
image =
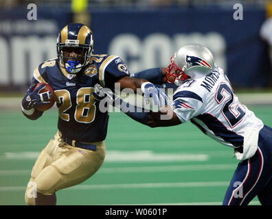
M 78 74 L 67 73 L 56 58 L 34 70 L 32 83 L 49 83 L 54 89 L 58 129 L 64 136 L 78 142 L 100 142 L 106 138 L 109 115 L 98 109 L 93 87 L 100 83 L 114 88 L 115 81 L 129 76 L 128 68 L 116 55 L 93 55 L 88 66 Z

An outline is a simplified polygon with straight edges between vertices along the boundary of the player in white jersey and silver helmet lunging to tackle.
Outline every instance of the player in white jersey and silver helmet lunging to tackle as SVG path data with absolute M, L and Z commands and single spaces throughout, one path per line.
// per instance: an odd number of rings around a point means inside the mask
M 181 47 L 171 57 L 166 77 L 168 82 L 179 85 L 171 105 L 159 112 L 144 112 L 126 103 L 123 112 L 150 127 L 179 125 L 190 120 L 207 136 L 234 148 L 240 161 L 223 205 L 247 205 L 255 196 L 262 205 L 272 205 L 272 129 L 239 102 L 227 75 L 214 64 L 209 49 L 201 44 Z M 122 103 L 122 110 L 125 102 L 101 89 L 97 88 L 97 93 Z M 128 108 L 132 110 L 127 112 Z

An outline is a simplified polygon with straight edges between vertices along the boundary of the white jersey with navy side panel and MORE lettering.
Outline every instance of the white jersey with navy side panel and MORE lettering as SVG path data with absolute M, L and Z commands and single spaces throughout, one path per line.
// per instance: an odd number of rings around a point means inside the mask
M 190 120 L 207 136 L 231 147 L 243 144 L 247 128 L 264 124 L 234 94 L 223 69 L 183 83 L 174 92 L 171 108 L 185 123 Z

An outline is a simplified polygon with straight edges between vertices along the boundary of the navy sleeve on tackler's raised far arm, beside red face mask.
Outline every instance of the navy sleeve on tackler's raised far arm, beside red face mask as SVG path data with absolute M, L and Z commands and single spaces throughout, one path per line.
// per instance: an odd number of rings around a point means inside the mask
M 131 74 L 131 77 L 144 78 L 154 84 L 163 83 L 161 68 L 149 68 L 142 70 L 139 73 Z

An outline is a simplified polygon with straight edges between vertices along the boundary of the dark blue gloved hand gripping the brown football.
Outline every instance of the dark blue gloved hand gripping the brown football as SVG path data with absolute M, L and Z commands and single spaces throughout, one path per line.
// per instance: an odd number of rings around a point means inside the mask
M 45 88 L 45 85 L 41 84 L 34 90 L 35 86 L 36 84 L 32 84 L 23 97 L 22 106 L 25 110 L 31 110 L 35 106 L 50 103 L 48 100 L 51 98 L 51 92 L 47 91 L 40 93 L 41 90 Z

